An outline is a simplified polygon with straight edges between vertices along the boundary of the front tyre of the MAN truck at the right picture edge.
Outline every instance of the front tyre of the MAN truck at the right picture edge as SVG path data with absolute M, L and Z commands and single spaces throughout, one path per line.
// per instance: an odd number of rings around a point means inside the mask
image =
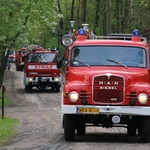
M 141 128 L 141 142 L 142 143 L 150 142 L 150 117 L 143 118 Z

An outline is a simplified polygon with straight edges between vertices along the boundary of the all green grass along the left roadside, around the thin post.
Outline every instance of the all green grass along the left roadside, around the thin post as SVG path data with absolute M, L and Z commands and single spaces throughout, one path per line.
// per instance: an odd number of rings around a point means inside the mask
M 11 101 L 4 96 L 4 107 L 11 104 Z M 2 107 L 2 96 L 0 93 L 0 111 Z M 5 108 L 4 108 L 5 109 Z M 1 114 L 1 113 L 0 113 Z M 0 116 L 0 147 L 10 143 L 11 139 L 15 135 L 14 127 L 19 123 L 19 120 L 14 118 L 9 118 L 4 115 L 4 118 L 2 119 L 2 116 Z

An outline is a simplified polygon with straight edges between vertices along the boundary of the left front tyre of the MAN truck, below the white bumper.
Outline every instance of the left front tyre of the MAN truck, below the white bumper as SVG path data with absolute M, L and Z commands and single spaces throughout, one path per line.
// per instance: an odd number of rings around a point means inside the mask
M 75 133 L 73 115 L 64 115 L 64 138 L 66 141 L 73 141 Z

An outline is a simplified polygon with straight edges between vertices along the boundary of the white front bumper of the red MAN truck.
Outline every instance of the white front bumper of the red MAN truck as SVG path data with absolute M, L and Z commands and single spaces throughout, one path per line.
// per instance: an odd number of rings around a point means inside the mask
M 78 112 L 79 108 L 98 108 L 98 112 Z M 150 108 L 145 106 L 95 106 L 95 105 L 61 105 L 62 114 L 99 114 L 150 116 Z

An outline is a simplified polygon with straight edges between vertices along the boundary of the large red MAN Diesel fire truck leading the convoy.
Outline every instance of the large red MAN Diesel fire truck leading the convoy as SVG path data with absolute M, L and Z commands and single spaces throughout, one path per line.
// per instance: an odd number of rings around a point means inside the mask
M 67 47 L 61 112 L 66 141 L 86 126 L 125 127 L 130 136 L 150 141 L 150 64 L 146 39 L 133 36 L 64 35 Z

